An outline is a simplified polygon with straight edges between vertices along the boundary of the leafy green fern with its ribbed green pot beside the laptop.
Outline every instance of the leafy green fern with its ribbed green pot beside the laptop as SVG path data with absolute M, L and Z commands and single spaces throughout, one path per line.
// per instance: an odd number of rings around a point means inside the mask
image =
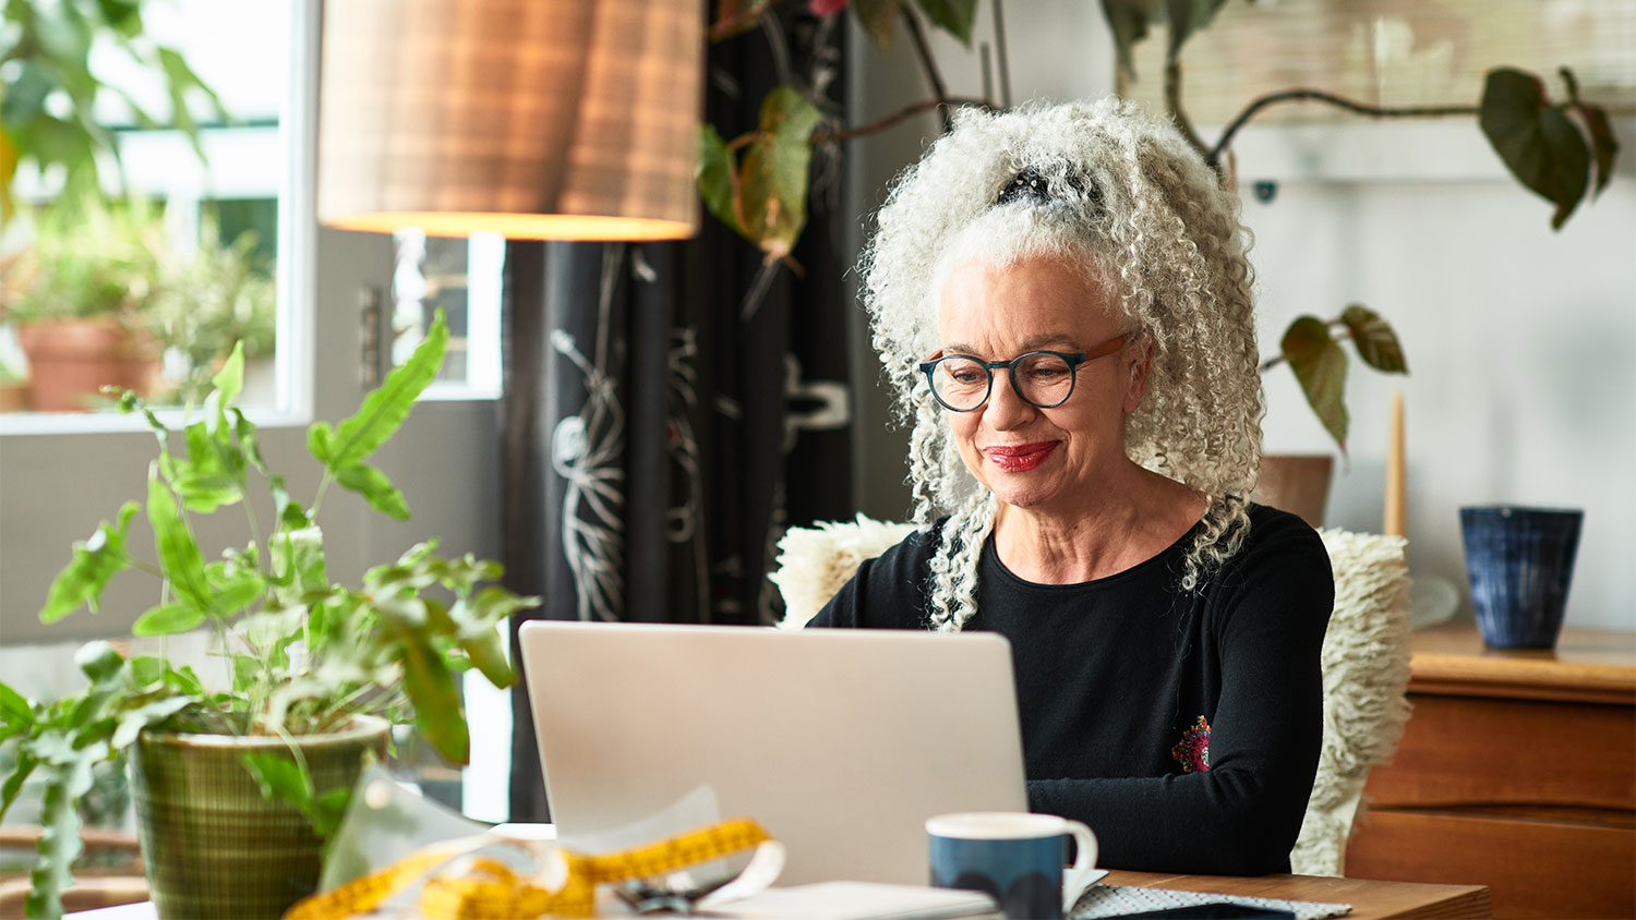
M 409 363 L 352 418 L 309 428 L 322 482 L 308 505 L 268 469 L 255 425 L 234 405 L 240 348 L 180 431 L 134 394 L 119 394 L 121 410 L 146 415 L 159 440 L 146 502 L 128 502 L 75 544 L 39 616 L 95 610 L 115 574 L 139 569 L 155 575 L 159 590 L 133 632 L 208 627 L 226 677 L 213 685 L 209 673 L 165 655 L 126 659 L 108 642 L 90 642 L 77 655 L 88 685 L 74 696 L 31 701 L 0 683 L 0 742 L 16 744 L 0 817 L 29 775 L 44 776 L 29 917 L 62 912 L 80 848 L 75 799 L 98 763 L 129 758 L 160 917 L 257 917 L 281 913 L 316 886 L 322 840 L 365 753 L 386 747 L 388 726 L 414 726 L 445 760 L 468 760 L 456 677 L 478 668 L 494 685 L 510 685 L 501 626 L 537 600 L 483 587 L 501 575 L 499 565 L 470 554 L 447 559 L 435 541 L 370 569 L 362 585 L 334 583 L 319 526 L 330 485 L 407 520 L 404 497 L 365 461 L 434 379 L 447 340 L 438 314 Z M 272 520 L 258 521 L 252 482 L 270 493 Z M 247 539 L 208 560 L 191 520 L 227 508 L 245 515 Z M 151 559 L 128 543 L 142 513 L 155 534 Z M 216 672 L 214 663 L 206 670 Z

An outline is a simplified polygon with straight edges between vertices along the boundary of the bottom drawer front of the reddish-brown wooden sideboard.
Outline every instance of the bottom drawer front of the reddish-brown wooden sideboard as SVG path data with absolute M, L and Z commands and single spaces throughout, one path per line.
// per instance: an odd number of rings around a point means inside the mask
M 1636 830 L 1369 811 L 1346 848 L 1346 874 L 1485 884 L 1495 917 L 1636 917 Z

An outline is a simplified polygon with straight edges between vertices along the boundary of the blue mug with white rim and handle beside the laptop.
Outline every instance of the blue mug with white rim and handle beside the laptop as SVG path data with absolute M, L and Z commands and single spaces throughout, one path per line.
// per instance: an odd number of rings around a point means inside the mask
M 1096 835 L 1049 814 L 964 812 L 926 820 L 933 887 L 988 892 L 1008 920 L 1060 918 L 1096 869 Z M 1067 838 L 1078 848 L 1067 863 Z

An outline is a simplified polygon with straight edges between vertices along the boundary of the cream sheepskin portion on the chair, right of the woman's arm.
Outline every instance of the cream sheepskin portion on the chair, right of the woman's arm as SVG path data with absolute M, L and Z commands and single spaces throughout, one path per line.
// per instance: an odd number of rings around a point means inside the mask
M 1324 636 L 1324 750 L 1291 871 L 1340 876 L 1369 768 L 1391 760 L 1409 721 L 1409 569 L 1399 536 L 1320 531 L 1335 569 Z

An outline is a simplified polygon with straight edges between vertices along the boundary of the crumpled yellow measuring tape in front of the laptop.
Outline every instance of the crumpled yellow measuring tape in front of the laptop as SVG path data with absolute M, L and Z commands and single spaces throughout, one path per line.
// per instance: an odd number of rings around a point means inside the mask
M 769 840 L 754 820 L 733 819 L 618 853 L 584 855 L 558 848 L 556 853 L 568 863 L 566 881 L 558 887 L 551 886 L 556 879 L 548 878 L 556 873 L 520 876 L 489 856 L 473 856 L 460 876 L 425 878 L 473 850 L 515 843 L 483 835 L 419 850 L 378 873 L 314 894 L 291 907 L 285 920 L 342 920 L 368 913 L 422 878 L 420 915 L 427 920 L 510 920 L 546 913 L 591 917 L 599 884 L 666 876 Z

